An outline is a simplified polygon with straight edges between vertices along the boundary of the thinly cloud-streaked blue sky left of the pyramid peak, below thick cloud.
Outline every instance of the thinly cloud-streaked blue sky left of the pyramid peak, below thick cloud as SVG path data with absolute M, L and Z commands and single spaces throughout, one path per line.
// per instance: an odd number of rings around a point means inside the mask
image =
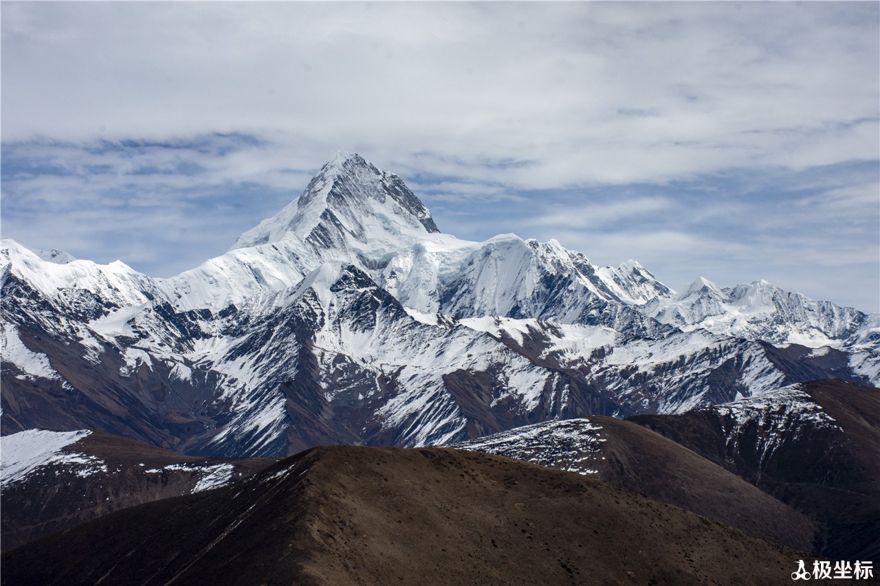
M 4 236 L 99 262 L 124 260 L 150 275 L 175 275 L 223 253 L 312 176 L 313 169 L 276 169 L 274 185 L 247 173 L 229 177 L 224 160 L 241 151 L 256 159 L 264 146 L 247 136 L 6 144 Z

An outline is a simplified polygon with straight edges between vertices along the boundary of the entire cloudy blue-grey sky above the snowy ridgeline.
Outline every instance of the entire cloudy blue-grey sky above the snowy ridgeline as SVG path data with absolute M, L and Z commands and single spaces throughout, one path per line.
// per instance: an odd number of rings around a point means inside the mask
M 876 2 L 0 11 L 22 244 L 176 275 L 353 150 L 458 238 L 880 311 Z

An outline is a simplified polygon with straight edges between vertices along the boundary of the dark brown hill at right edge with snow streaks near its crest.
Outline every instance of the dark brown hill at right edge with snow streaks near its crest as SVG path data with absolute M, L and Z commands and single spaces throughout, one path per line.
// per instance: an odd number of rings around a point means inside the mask
M 825 555 L 880 559 L 880 390 L 814 381 L 632 421 L 815 519 Z

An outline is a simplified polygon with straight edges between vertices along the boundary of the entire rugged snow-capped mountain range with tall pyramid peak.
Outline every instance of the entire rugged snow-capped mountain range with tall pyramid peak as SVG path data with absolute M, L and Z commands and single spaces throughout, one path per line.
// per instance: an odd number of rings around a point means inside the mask
M 676 295 L 634 261 L 595 267 L 554 240 L 460 240 L 353 153 L 172 278 L 57 264 L 9 239 L 0 259 L 5 434 L 281 456 L 880 380 L 876 315 L 769 285 Z M 798 344 L 804 324 L 828 345 Z

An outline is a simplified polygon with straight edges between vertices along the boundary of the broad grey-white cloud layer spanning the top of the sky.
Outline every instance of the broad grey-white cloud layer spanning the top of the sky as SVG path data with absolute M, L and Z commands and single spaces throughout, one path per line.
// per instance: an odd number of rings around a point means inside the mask
M 274 131 L 478 179 L 528 162 L 517 187 L 876 152 L 846 126 L 876 133 L 871 4 L 22 3 L 3 23 L 5 140 Z

